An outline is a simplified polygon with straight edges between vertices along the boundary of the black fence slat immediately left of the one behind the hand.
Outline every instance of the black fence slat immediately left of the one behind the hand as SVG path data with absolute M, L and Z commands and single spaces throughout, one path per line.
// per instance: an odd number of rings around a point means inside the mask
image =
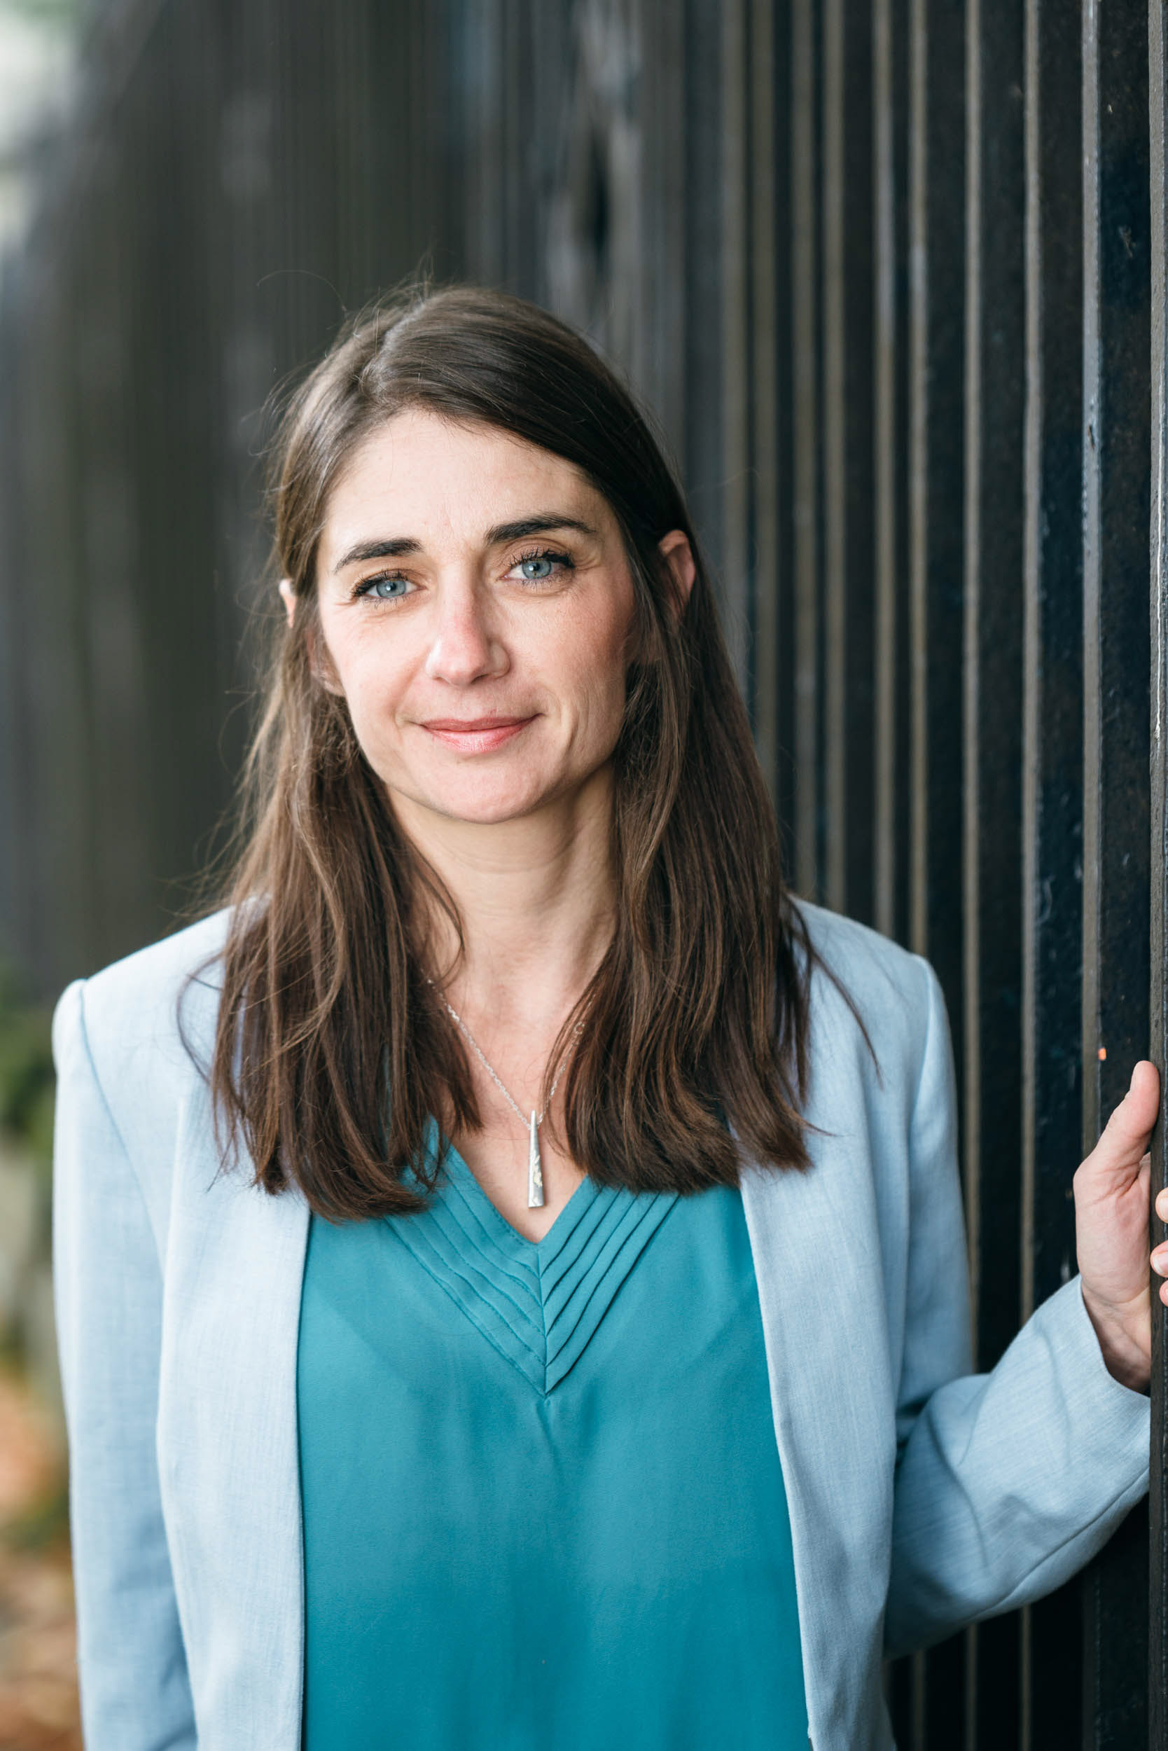
M 1079 32 L 1026 5 L 1026 541 L 1021 1317 L 1075 1269 L 1082 979 L 1082 173 Z M 1082 1732 L 1079 1581 L 1023 1613 L 1023 1751 Z

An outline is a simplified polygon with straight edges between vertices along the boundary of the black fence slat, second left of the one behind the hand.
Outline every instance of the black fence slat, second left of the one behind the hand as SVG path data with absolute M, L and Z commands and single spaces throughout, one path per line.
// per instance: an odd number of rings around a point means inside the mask
M 1019 1320 L 1021 25 L 1012 0 L 967 7 L 965 1208 L 979 1369 L 993 1368 Z M 968 1744 L 1007 1751 L 1017 1742 L 1017 1618 L 977 1625 L 968 1651 Z

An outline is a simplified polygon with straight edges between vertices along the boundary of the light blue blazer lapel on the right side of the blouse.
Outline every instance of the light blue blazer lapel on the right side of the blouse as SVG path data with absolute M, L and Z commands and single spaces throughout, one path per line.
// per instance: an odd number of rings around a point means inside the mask
M 809 1103 L 821 1128 L 809 1135 L 811 1170 L 746 1166 L 742 1205 L 792 1520 L 811 1737 L 869 1751 L 886 1742 L 881 1623 L 897 1434 L 862 1077 L 828 1072 L 825 1080 L 837 1098 L 830 1114 Z

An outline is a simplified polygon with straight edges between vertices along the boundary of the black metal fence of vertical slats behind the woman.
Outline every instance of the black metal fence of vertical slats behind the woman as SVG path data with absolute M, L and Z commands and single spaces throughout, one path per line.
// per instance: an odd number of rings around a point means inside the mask
M 166 928 L 243 734 L 257 410 L 429 252 L 657 410 L 795 884 L 946 988 L 991 1366 L 1168 1033 L 1164 39 L 1164 0 L 109 5 L 2 317 L 39 982 Z M 1168 1744 L 1166 1382 L 1157 1329 L 1150 1541 L 890 1672 L 904 1751 Z

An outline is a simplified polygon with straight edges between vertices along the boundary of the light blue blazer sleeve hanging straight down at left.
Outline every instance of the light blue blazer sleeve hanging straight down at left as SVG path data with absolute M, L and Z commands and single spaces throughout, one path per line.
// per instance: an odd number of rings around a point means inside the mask
M 161 1268 L 79 981 L 53 1023 L 53 1269 L 86 1751 L 194 1751 L 154 1429 Z

